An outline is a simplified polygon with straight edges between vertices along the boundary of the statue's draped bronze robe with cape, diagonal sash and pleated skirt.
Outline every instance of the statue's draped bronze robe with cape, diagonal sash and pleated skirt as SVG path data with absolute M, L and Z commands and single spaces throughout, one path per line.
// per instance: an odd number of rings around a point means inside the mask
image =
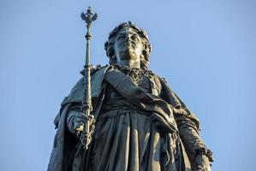
M 83 97 L 83 79 L 79 80 L 56 117 L 57 134 L 48 171 L 191 170 L 191 139 L 184 133 L 193 130 L 193 145 L 204 146 L 197 134 L 199 120 L 158 75 L 145 77 L 151 84 L 148 90 L 113 66 L 92 74 L 96 129 L 86 151 L 66 126 L 68 110 L 79 106 Z M 122 108 L 105 104 L 108 87 L 121 95 L 118 102 Z

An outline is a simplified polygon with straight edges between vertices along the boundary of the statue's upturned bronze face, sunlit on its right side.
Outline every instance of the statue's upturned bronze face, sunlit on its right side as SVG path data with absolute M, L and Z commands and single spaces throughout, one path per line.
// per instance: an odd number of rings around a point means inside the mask
M 140 35 L 130 27 L 123 27 L 116 34 L 114 50 L 117 63 L 139 61 L 143 50 Z

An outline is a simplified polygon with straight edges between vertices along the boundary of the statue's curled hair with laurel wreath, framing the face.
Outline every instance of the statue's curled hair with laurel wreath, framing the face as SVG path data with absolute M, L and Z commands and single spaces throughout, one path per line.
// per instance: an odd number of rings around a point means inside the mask
M 104 48 L 106 50 L 106 55 L 110 58 L 110 64 L 116 64 L 116 55 L 114 50 L 114 44 L 116 39 L 116 34 L 119 32 L 123 27 L 131 27 L 137 32 L 141 38 L 143 44 L 142 55 L 140 56 L 140 68 L 148 68 L 150 53 L 152 50 L 152 45 L 150 44 L 147 34 L 144 30 L 139 27 L 136 27 L 134 23 L 131 21 L 123 22 L 118 27 L 110 32 L 109 40 L 104 44 Z

